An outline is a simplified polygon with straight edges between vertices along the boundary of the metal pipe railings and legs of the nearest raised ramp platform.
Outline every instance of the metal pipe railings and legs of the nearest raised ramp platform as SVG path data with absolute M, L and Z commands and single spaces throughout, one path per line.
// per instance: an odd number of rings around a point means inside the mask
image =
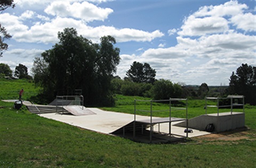
M 186 101 L 186 107 L 185 108 L 180 108 L 180 107 L 173 107 L 172 106 L 172 102 L 174 101 Z M 137 102 L 150 102 L 150 110 L 138 110 L 136 108 L 136 103 Z M 164 102 L 169 102 L 169 109 L 167 110 L 155 110 L 153 111 L 153 103 L 164 103 Z M 187 131 L 186 131 L 186 137 L 188 137 L 188 108 L 187 108 L 187 104 L 188 104 L 188 100 L 187 98 L 170 98 L 170 99 L 166 99 L 166 100 L 134 100 L 134 122 L 133 122 L 133 138 L 135 138 L 135 134 L 136 134 L 136 122 L 142 123 L 141 125 L 141 133 L 143 134 L 143 124 L 146 125 L 150 125 L 150 136 L 149 136 L 149 140 L 150 143 L 152 142 L 152 137 L 153 137 L 153 133 L 154 133 L 154 125 L 158 124 L 158 132 L 160 132 L 160 124 L 161 123 L 169 123 L 169 136 L 171 137 L 172 135 L 174 135 L 173 133 L 171 133 L 171 122 L 175 122 L 175 121 L 186 121 L 187 122 Z M 172 111 L 175 110 L 185 110 L 186 111 L 186 119 L 182 119 L 182 118 L 177 118 L 177 117 L 172 117 Z M 150 112 L 150 119 L 149 120 L 136 120 L 136 112 Z M 153 119 L 153 112 L 169 112 L 169 117 L 164 117 L 164 118 L 159 118 L 159 119 Z M 181 136 L 181 135 L 175 135 L 175 136 Z M 183 137 L 183 136 L 181 136 Z

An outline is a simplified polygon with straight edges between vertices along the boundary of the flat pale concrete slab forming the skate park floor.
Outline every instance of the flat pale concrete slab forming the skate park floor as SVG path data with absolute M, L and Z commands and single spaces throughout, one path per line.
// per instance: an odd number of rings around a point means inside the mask
M 95 114 L 75 116 L 58 113 L 47 113 L 39 114 L 39 116 L 105 134 L 114 132 L 115 130 L 122 128 L 124 125 L 134 121 L 133 114 L 102 111 L 99 108 L 87 109 Z M 148 120 L 149 118 L 150 117 L 148 116 L 136 115 L 136 120 Z M 154 119 L 159 119 L 159 117 L 154 117 Z M 174 126 L 173 124 L 175 123 L 177 122 L 172 122 L 171 132 L 177 135 L 186 136 L 186 133 L 184 133 L 185 128 Z M 154 126 L 154 130 L 158 131 L 158 127 L 160 132 L 169 132 L 169 123 L 162 123 L 160 125 L 156 124 Z M 188 137 L 197 137 L 207 134 L 209 134 L 209 132 L 193 129 L 193 133 L 189 133 Z

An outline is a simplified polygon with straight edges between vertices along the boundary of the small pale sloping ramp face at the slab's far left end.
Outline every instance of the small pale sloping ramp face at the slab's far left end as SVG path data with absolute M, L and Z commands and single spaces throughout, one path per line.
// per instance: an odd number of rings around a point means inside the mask
M 63 108 L 73 115 L 92 115 L 96 114 L 83 106 L 63 106 Z

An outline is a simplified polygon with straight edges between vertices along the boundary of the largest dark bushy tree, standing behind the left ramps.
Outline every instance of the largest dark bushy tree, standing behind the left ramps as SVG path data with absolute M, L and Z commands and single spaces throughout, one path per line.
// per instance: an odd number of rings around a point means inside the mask
M 34 61 L 34 77 L 51 101 L 67 90 L 82 89 L 86 105 L 111 105 L 110 81 L 120 61 L 115 38 L 105 36 L 100 44 L 77 35 L 74 28 L 58 33 L 59 43 Z

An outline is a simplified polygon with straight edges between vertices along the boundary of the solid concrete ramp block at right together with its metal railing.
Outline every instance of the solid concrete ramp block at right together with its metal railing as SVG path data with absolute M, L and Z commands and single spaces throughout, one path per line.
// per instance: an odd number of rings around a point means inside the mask
M 217 105 L 212 105 L 214 102 Z M 226 102 L 226 104 L 221 104 Z M 208 114 L 209 107 L 216 108 L 217 113 Z M 228 112 L 219 112 L 221 108 L 229 108 Z M 243 112 L 234 112 L 234 108 L 241 108 Z M 245 127 L 244 96 L 229 95 L 227 97 L 205 97 L 205 114 L 189 119 L 188 127 L 197 130 L 207 130 L 213 125 L 211 132 L 223 132 Z M 186 127 L 185 122 L 175 124 L 179 127 Z

